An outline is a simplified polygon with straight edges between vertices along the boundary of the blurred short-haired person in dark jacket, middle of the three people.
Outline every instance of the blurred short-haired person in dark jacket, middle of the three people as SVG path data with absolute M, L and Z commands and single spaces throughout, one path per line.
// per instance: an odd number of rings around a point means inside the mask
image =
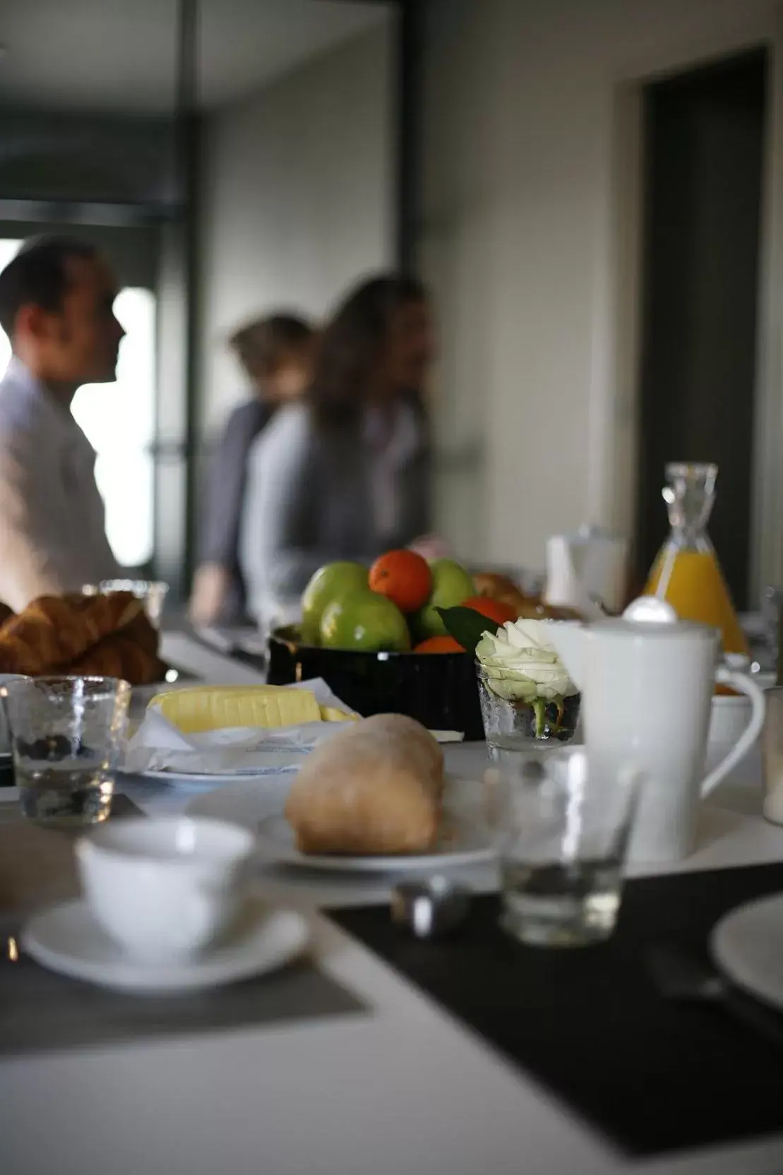
M 189 615 L 194 624 L 230 624 L 245 616 L 239 535 L 247 457 L 275 410 L 297 400 L 312 377 L 315 333 L 295 315 L 276 314 L 237 330 L 229 345 L 255 395 L 228 418 L 214 457 Z

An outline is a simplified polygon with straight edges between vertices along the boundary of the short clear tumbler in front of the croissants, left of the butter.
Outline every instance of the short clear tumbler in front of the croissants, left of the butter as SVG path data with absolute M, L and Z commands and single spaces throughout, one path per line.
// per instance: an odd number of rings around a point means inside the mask
M 22 813 L 54 825 L 98 824 L 112 808 L 130 686 L 112 677 L 7 682 L 11 750 Z

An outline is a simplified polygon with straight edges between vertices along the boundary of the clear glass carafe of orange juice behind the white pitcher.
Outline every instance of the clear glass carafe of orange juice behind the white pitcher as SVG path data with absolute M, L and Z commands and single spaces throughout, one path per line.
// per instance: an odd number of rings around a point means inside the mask
M 644 591 L 665 599 L 681 619 L 720 629 L 724 652 L 747 653 L 748 643 L 707 533 L 717 465 L 670 463 L 665 476 L 662 492 L 671 532 L 658 551 Z

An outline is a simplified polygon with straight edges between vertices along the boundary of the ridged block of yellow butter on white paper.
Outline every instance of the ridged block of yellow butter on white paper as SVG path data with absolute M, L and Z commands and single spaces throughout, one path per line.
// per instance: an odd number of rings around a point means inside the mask
M 274 730 L 322 721 L 321 707 L 310 690 L 289 690 L 285 685 L 196 685 L 159 693 L 149 706 L 160 710 L 183 734 L 227 726 Z

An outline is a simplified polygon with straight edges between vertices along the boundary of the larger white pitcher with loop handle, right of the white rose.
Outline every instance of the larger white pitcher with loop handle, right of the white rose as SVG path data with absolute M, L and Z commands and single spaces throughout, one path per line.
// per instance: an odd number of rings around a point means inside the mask
M 720 633 L 702 624 L 601 620 L 551 624 L 550 636 L 582 691 L 585 743 L 613 772 L 633 763 L 647 774 L 630 857 L 676 861 L 694 851 L 696 812 L 761 733 L 764 694 L 718 665 Z M 750 721 L 705 777 L 715 683 L 748 694 Z

